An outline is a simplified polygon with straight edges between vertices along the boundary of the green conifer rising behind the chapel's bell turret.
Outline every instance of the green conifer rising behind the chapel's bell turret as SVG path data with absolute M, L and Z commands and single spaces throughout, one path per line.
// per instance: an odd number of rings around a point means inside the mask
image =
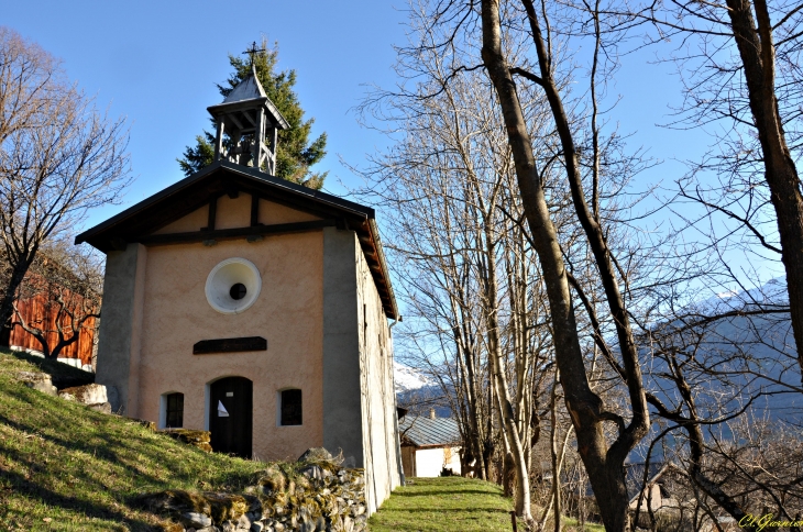
M 323 186 L 327 173 L 315 173 L 310 167 L 326 155 L 327 134 L 321 133 L 318 138 L 309 143 L 309 134 L 315 119 L 304 120 L 304 109 L 298 102 L 298 96 L 293 87 L 296 85 L 296 71 L 276 71 L 278 63 L 278 44 L 267 47 L 267 40 L 262 38 L 262 52 L 254 55 L 256 77 L 260 79 L 265 93 L 276 106 L 290 128 L 278 132 L 278 152 L 276 154 L 276 177 L 304 185 L 316 190 Z M 234 87 L 251 75 L 251 59 L 229 54 L 229 63 L 234 73 L 218 90 L 227 97 Z M 187 146 L 184 156 L 178 160 L 182 170 L 190 176 L 207 165 L 212 164 L 215 157 L 215 134 L 205 131 L 196 136 L 195 146 Z

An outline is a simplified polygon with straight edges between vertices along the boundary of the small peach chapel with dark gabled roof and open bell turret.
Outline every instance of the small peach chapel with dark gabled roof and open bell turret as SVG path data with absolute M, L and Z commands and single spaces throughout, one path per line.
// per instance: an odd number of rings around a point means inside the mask
M 76 237 L 107 255 L 97 383 L 217 452 L 342 451 L 373 512 L 402 474 L 374 210 L 273 177 L 288 125 L 255 74 L 209 112 L 213 164 Z

